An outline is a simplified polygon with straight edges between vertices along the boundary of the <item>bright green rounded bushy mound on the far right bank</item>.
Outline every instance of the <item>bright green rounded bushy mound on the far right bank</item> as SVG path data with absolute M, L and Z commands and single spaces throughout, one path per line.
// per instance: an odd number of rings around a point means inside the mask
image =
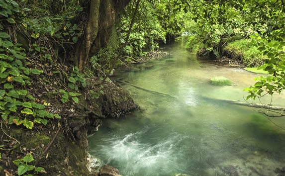
M 224 48 L 224 54 L 232 60 L 242 61 L 247 67 L 259 67 L 265 63 L 267 56 L 258 49 L 251 39 L 241 39 L 230 42 Z

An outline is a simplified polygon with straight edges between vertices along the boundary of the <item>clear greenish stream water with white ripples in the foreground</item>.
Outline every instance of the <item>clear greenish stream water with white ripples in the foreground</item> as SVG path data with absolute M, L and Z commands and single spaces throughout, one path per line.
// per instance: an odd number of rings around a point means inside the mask
M 91 155 L 122 176 L 274 176 L 285 169 L 285 130 L 257 109 L 215 100 L 244 101 L 243 89 L 259 75 L 197 59 L 178 46 L 165 50 L 170 55 L 163 59 L 116 70 L 115 79 L 177 98 L 122 84 L 140 109 L 103 121 L 89 137 Z M 233 86 L 213 86 L 213 76 Z M 284 105 L 284 97 L 273 103 Z M 271 120 L 285 127 L 284 117 Z

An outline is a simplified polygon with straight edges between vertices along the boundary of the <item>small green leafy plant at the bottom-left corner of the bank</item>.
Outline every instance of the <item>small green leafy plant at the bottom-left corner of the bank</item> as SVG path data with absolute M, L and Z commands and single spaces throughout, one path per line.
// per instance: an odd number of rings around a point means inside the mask
M 35 167 L 34 165 L 30 165 L 30 163 L 34 161 L 34 158 L 31 154 L 28 154 L 22 159 L 14 160 L 13 163 L 18 167 L 18 176 L 23 174 L 27 174 L 29 171 L 33 171 L 34 174 L 45 173 L 44 168 Z M 25 176 L 32 176 L 31 174 L 27 174 Z

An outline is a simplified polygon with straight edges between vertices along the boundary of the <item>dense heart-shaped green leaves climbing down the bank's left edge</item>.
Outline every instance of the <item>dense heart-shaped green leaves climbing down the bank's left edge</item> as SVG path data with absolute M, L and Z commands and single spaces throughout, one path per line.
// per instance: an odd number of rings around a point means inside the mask
M 43 71 L 25 67 L 24 49 L 12 43 L 6 32 L 0 32 L 0 46 L 0 115 L 4 123 L 32 129 L 34 123 L 46 125 L 46 118 L 60 118 L 44 110 L 46 106 L 37 103 L 26 90 L 31 85 L 30 76 Z

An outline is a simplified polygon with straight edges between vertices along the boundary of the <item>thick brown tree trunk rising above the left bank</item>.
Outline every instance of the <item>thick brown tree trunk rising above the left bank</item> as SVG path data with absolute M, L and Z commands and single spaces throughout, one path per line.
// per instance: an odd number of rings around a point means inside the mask
M 108 41 L 118 12 L 131 0 L 91 0 L 85 40 L 76 47 L 75 65 L 82 70 L 90 56 Z

